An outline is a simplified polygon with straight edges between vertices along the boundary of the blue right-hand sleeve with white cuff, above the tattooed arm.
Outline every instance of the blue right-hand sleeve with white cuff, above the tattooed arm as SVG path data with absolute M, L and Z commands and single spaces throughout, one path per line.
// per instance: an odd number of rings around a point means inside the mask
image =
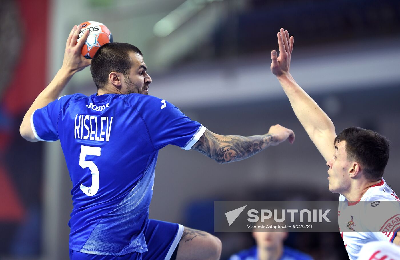
M 168 144 L 190 150 L 206 131 L 202 124 L 190 120 L 176 106 L 160 98 L 151 98 L 148 107 L 140 113 L 156 150 Z

